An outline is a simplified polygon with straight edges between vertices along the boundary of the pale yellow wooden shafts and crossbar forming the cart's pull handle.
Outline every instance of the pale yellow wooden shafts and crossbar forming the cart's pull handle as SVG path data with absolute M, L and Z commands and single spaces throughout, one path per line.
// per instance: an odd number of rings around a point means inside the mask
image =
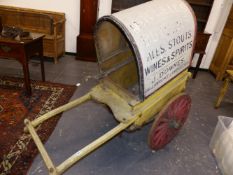
M 77 100 L 69 102 L 66 105 L 63 105 L 57 109 L 54 109 L 54 110 L 44 114 L 43 116 L 35 119 L 34 121 L 29 121 L 28 119 L 24 120 L 24 123 L 26 125 L 24 130 L 31 134 L 32 139 L 34 140 L 34 142 L 35 142 L 35 144 L 36 144 L 36 146 L 37 146 L 37 148 L 42 156 L 42 159 L 43 159 L 46 167 L 48 168 L 49 175 L 60 175 L 60 174 L 64 173 L 67 169 L 69 169 L 71 166 L 73 166 L 77 161 L 81 160 L 86 155 L 88 155 L 89 153 L 91 153 L 92 151 L 94 151 L 95 149 L 100 147 L 101 145 L 103 145 L 105 142 L 109 141 L 110 139 L 115 137 L 117 134 L 119 134 L 120 132 L 122 132 L 123 130 L 128 128 L 138 118 L 138 115 L 137 115 L 135 117 L 132 117 L 131 120 L 129 120 L 125 123 L 118 124 L 115 128 L 111 129 L 110 131 L 108 131 L 107 133 L 105 133 L 104 135 L 99 137 L 98 139 L 94 140 L 89 145 L 85 146 L 84 148 L 82 148 L 78 152 L 74 153 L 67 160 L 62 162 L 59 166 L 55 167 L 55 165 L 53 164 L 51 158 L 49 157 L 43 143 L 41 142 L 38 134 L 36 133 L 35 127 L 38 126 L 39 124 L 43 123 L 44 121 L 48 120 L 49 118 L 51 118 L 51 117 L 53 117 L 61 112 L 67 111 L 67 110 L 69 110 L 77 105 L 80 105 L 88 100 L 91 100 L 91 99 L 92 99 L 92 97 L 91 97 L 90 93 L 88 93 Z

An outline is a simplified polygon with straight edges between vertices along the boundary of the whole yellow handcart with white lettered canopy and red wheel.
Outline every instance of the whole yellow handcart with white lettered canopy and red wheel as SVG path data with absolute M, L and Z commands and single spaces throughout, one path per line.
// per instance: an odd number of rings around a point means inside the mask
M 183 92 L 191 76 L 187 69 L 195 36 L 195 16 L 183 0 L 150 1 L 100 18 L 95 30 L 99 84 L 34 121 L 25 120 L 25 131 L 31 134 L 49 174 L 64 173 L 123 130 L 136 130 L 154 119 L 150 148 L 158 150 L 168 144 L 191 107 L 191 98 Z M 56 167 L 35 128 L 89 100 L 107 105 L 120 124 Z

